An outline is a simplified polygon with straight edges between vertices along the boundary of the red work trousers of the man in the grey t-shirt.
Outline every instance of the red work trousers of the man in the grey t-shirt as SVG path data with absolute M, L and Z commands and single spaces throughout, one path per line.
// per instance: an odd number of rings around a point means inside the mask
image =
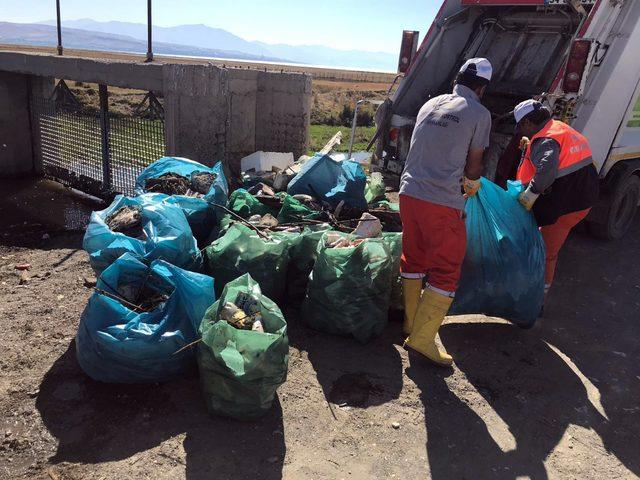
M 467 249 L 462 211 L 400 195 L 400 217 L 402 276 L 426 276 L 431 288 L 454 293 Z

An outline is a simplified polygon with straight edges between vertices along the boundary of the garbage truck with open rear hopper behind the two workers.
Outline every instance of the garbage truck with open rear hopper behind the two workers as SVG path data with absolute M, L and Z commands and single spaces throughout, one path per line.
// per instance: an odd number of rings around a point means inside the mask
M 465 60 L 486 57 L 485 176 L 517 168 L 511 112 L 535 97 L 589 139 L 602 182 L 589 231 L 622 237 L 640 204 L 639 17 L 638 0 L 445 0 L 419 47 L 418 32 L 403 33 L 399 83 L 376 112 L 378 163 L 401 174 L 420 107 L 451 91 Z

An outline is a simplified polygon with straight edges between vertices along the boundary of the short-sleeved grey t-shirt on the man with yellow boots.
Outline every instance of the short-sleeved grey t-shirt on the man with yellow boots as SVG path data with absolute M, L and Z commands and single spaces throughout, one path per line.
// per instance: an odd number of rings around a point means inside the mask
M 487 148 L 490 132 L 491 114 L 470 88 L 429 100 L 418 112 L 400 194 L 462 210 L 467 154 Z

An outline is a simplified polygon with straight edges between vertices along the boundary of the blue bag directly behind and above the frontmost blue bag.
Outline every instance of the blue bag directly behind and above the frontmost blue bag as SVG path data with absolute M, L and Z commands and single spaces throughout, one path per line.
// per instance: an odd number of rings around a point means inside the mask
M 167 198 L 159 193 L 133 198 L 118 195 L 105 210 L 91 214 L 82 247 L 89 254 L 96 275 L 126 252 L 135 253 L 148 262 L 162 259 L 188 270 L 201 268 L 202 255 L 189 222 L 180 207 L 167 203 Z M 107 226 L 105 220 L 124 206 L 140 209 L 145 239 L 114 232 Z

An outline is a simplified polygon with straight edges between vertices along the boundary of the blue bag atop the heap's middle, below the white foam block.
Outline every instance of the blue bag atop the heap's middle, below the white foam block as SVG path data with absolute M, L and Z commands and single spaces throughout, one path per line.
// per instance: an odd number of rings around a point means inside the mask
M 364 190 L 367 176 L 359 163 L 336 161 L 329 155 L 316 155 L 307 160 L 300 172 L 289 182 L 287 193 L 311 195 L 329 203 L 333 208 L 344 200 L 346 205 L 365 211 Z

